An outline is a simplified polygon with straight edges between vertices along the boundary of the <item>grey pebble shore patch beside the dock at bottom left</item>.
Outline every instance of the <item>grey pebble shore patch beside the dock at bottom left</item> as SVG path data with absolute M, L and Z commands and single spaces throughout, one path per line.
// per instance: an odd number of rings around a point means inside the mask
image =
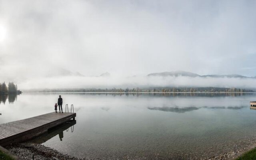
M 57 150 L 34 143 L 18 143 L 5 147 L 12 154 L 23 160 L 87 160 L 86 158 L 72 157 L 68 154 L 62 154 Z

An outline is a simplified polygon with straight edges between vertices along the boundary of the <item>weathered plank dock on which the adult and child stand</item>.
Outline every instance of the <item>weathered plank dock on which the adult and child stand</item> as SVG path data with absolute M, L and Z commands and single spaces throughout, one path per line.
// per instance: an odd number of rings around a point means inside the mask
M 52 112 L 24 120 L 0 124 L 0 146 L 29 140 L 70 119 L 75 120 L 75 117 L 76 113 Z

